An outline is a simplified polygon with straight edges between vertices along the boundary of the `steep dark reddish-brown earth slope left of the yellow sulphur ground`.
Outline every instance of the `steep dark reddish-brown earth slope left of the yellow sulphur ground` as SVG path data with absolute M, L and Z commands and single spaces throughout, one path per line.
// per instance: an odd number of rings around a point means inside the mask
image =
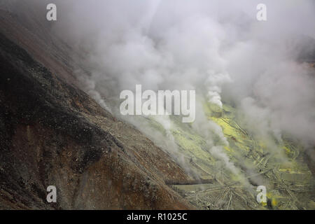
M 165 184 L 188 175 L 79 90 L 70 53 L 1 10 L 0 209 L 193 209 Z

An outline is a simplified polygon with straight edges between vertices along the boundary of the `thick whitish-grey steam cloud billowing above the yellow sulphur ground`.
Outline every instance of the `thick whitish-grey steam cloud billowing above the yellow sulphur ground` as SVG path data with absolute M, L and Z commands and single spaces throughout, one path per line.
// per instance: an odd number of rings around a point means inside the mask
M 258 3 L 267 5 L 266 22 L 256 20 Z M 219 108 L 224 100 L 235 105 L 246 128 L 270 145 L 286 133 L 315 146 L 314 70 L 297 62 L 309 50 L 305 40 L 315 38 L 313 1 L 77 0 L 58 5 L 62 12 L 55 30 L 86 52 L 93 68 L 89 91 L 113 113 L 118 113 L 120 91 L 134 90 L 136 84 L 155 91 L 196 90 Z M 223 154 L 228 142 L 222 130 L 202 109 L 193 128 L 236 170 Z M 214 144 L 215 135 L 220 144 Z

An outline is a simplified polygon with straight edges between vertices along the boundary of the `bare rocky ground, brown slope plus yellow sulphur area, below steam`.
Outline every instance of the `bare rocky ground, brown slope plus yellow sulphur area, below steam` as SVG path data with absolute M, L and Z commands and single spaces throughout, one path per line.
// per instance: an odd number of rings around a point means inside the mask
M 51 33 L 38 13 L 45 7 L 6 1 L 0 3 L 0 209 L 314 209 L 314 162 L 296 142 L 283 139 L 281 155 L 270 154 L 235 107 L 223 102 L 217 113 L 205 103 L 207 118 L 228 140 L 224 153 L 239 169 L 233 174 L 209 151 L 207 137 L 176 116 L 169 132 L 139 118 L 154 130 L 139 132 L 80 90 L 76 70 L 89 76 L 84 54 Z M 186 172 L 171 149 L 157 147 L 167 135 Z M 267 187 L 265 204 L 256 201 L 260 184 Z M 49 204 L 51 185 L 57 203 Z

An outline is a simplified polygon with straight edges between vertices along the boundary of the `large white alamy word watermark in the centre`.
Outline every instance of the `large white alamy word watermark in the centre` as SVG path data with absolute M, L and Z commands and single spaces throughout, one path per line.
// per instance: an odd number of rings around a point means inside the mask
M 183 123 L 192 123 L 195 120 L 195 90 L 145 90 L 142 85 L 136 85 L 136 94 L 131 90 L 120 92 L 120 99 L 125 99 L 120 104 L 122 115 L 144 116 L 183 116 Z M 174 99 L 174 100 L 173 100 Z M 189 106 L 188 106 L 189 104 Z

